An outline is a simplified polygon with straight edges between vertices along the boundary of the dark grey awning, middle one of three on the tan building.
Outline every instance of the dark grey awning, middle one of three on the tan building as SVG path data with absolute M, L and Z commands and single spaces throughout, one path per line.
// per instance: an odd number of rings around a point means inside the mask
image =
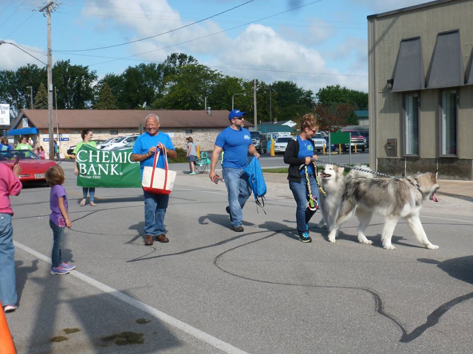
M 441 32 L 437 35 L 430 75 L 427 80 L 428 89 L 463 86 L 465 67 L 463 64 L 460 31 Z

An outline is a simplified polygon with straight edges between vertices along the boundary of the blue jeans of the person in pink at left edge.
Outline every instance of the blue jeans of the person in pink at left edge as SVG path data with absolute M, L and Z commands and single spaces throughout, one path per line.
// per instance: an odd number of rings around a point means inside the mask
M 2 306 L 16 305 L 15 246 L 11 215 L 0 213 L 0 301 Z M 0 311 L 3 311 L 0 309 Z

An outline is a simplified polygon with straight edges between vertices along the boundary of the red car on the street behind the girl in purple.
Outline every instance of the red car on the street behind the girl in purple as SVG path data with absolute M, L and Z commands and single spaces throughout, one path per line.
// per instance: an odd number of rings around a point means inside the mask
M 13 164 L 16 158 L 19 158 L 21 166 L 21 181 L 35 181 L 45 180 L 44 174 L 51 166 L 56 166 L 57 163 L 51 160 L 41 160 L 31 150 L 3 150 L 0 151 L 0 163 L 9 166 L 13 169 Z

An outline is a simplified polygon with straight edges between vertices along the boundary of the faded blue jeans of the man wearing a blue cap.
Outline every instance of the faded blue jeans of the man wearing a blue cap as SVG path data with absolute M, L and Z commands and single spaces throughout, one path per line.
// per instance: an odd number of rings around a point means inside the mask
M 251 195 L 251 188 L 248 177 L 242 169 L 224 168 L 223 178 L 228 192 L 228 205 L 232 213 L 233 227 L 241 225 L 243 222 L 243 207 Z

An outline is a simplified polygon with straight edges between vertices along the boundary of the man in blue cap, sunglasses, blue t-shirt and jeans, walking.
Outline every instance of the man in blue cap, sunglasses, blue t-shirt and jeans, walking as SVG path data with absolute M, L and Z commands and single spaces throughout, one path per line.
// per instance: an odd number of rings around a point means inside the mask
M 215 175 L 215 166 L 218 156 L 224 151 L 222 162 L 222 177 L 225 180 L 228 192 L 228 204 L 226 208 L 230 214 L 233 231 L 243 232 L 243 207 L 251 195 L 251 188 L 248 184 L 248 177 L 243 170 L 248 164 L 248 152 L 260 157 L 258 151 L 251 140 L 250 132 L 243 128 L 244 112 L 233 110 L 228 115 L 231 125 L 218 134 L 215 140 L 215 146 L 210 160 L 210 173 L 208 177 L 215 183 L 218 183 L 218 177 Z

